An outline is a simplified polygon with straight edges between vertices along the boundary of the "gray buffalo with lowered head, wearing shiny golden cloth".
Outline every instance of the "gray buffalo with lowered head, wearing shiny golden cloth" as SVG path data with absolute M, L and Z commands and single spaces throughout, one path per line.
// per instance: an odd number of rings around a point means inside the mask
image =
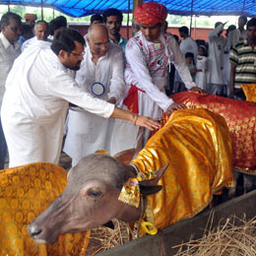
M 152 205 L 156 226 L 191 218 L 211 203 L 215 192 L 232 185 L 230 156 L 223 117 L 206 109 L 177 111 L 132 164 L 120 162 L 130 161 L 122 155 L 114 159 L 94 154 L 80 160 L 69 171 L 64 192 L 32 221 L 28 231 L 37 241 L 54 243 L 61 233 L 94 228 L 113 218 L 138 221 L 143 200 L 136 208 L 118 197 L 127 180 L 137 177 L 144 166 L 146 171 L 157 169 L 154 178 L 139 182 L 141 196 Z

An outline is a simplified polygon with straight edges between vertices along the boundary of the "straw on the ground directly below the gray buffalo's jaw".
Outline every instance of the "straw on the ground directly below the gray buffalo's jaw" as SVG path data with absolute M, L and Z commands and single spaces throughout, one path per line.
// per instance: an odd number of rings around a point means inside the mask
M 111 249 L 120 244 L 124 244 L 137 235 L 137 230 L 131 230 L 128 224 L 113 220 L 114 229 L 108 227 L 98 227 L 91 231 L 89 247 L 85 256 L 93 256 L 96 253 Z

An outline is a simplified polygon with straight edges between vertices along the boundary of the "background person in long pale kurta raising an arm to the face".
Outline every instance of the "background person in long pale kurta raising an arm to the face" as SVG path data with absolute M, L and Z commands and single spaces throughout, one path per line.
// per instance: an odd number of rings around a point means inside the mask
M 208 93 L 212 95 L 224 95 L 224 46 L 226 40 L 222 35 L 224 24 L 216 23 L 215 29 L 209 33 L 209 85 Z

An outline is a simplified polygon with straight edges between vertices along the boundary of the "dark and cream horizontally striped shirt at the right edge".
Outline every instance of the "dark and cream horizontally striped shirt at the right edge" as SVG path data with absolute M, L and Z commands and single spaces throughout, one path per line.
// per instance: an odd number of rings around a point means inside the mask
M 239 89 L 243 84 L 256 83 L 256 49 L 248 44 L 247 39 L 239 41 L 232 48 L 229 62 L 236 66 L 234 88 Z

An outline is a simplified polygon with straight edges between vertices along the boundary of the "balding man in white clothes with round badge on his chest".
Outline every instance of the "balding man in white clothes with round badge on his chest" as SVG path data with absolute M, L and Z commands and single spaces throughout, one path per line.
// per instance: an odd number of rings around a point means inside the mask
M 76 75 L 78 85 L 91 96 L 117 103 L 124 93 L 122 49 L 109 42 L 108 32 L 101 24 L 90 27 L 87 41 L 84 60 Z M 97 150 L 110 152 L 112 121 L 71 107 L 64 152 L 72 158 L 73 166 Z

